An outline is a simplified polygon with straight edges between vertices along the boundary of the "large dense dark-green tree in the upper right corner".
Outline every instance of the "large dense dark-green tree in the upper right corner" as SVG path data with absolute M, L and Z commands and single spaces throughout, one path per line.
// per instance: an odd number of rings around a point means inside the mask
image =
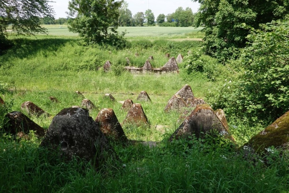
M 201 4 L 196 24 L 205 25 L 205 52 L 219 61 L 238 56 L 250 28 L 259 29 L 260 24 L 282 19 L 289 12 L 288 0 L 192 1 Z

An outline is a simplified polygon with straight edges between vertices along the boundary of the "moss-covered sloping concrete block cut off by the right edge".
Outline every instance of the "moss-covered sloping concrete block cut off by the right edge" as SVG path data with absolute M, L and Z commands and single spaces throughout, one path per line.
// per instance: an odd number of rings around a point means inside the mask
M 245 144 L 257 152 L 269 152 L 271 146 L 282 150 L 289 149 L 289 111 Z

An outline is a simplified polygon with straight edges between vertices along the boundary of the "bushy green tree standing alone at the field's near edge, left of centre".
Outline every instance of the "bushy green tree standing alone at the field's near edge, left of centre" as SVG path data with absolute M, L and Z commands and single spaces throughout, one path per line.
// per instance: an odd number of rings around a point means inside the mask
M 68 29 L 88 43 L 110 43 L 119 37 L 118 9 L 123 1 L 71 0 L 68 4 Z

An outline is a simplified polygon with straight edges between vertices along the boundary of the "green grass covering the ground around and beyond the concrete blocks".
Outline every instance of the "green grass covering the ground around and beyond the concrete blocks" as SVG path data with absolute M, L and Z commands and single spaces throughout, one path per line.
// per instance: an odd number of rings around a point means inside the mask
M 201 32 L 194 28 L 129 27 L 126 36 L 130 47 L 115 50 L 87 46 L 64 26 L 49 27 L 48 36 L 12 36 L 14 46 L 0 55 L 0 92 L 1 98 L 11 104 L 9 111 L 21 111 L 23 102 L 32 101 L 50 113 L 50 117 L 30 117 L 47 129 L 63 108 L 80 105 L 82 99 L 75 94 L 78 90 L 97 107 L 90 111 L 93 119 L 102 108 L 112 108 L 123 122 L 126 112 L 120 110 L 117 101 L 130 98 L 140 102 L 136 98 L 145 90 L 152 102 L 140 103 L 149 126 L 123 129 L 129 139 L 159 141 L 160 145 L 150 149 L 112 144 L 122 161 L 117 163 L 120 167 L 111 170 L 103 166 L 97 172 L 90 163 L 77 159 L 63 162 L 51 156 L 38 148 L 41 139 L 33 135 L 30 141 L 14 141 L 3 135 L 0 192 L 288 192 L 289 164 L 284 157 L 248 157 L 242 148 L 236 151 L 231 144 L 212 144 L 211 139 L 168 142 L 180 125 L 179 113 L 164 112 L 171 96 L 189 84 L 195 97 L 210 103 L 210 91 L 223 85 L 229 76 L 214 81 L 198 73 L 188 77 L 182 64 L 179 74 L 161 76 L 133 75 L 120 67 L 126 64 L 126 57 L 132 66 L 140 67 L 150 55 L 154 57 L 152 65 L 161 67 L 168 60 L 165 53 L 186 56 L 189 50 L 201 47 L 200 41 L 193 40 L 202 38 Z M 109 73 L 102 68 L 106 60 L 112 62 Z M 105 93 L 111 93 L 116 102 L 103 98 Z M 49 96 L 58 98 L 59 103 L 52 103 Z M 2 112 L 4 109 L 0 109 L 0 115 Z M 165 128 L 157 130 L 157 125 Z M 229 120 L 229 127 L 238 146 L 262 129 L 238 120 Z

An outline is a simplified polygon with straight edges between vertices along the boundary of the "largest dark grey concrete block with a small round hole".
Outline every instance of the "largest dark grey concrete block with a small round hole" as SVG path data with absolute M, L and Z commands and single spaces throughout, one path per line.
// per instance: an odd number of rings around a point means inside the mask
M 67 108 L 52 120 L 40 147 L 53 149 L 66 161 L 74 157 L 102 165 L 108 157 L 115 158 L 114 150 L 88 110 Z

